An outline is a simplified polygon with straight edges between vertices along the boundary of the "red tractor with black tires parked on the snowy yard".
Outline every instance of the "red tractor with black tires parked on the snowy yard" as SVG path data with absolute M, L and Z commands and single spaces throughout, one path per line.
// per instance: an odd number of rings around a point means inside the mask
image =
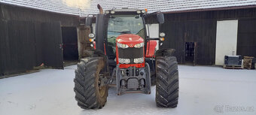
M 156 15 L 164 23 L 163 14 L 148 14 L 145 10 L 112 9 L 98 5 L 96 35 L 90 34 L 91 47 L 75 70 L 75 99 L 84 109 L 104 107 L 108 87 L 116 86 L 117 95 L 131 92 L 151 94 L 156 85 L 157 107 L 177 107 L 178 65 L 174 50 L 156 50 L 157 41 L 163 44 L 165 34 L 149 38 L 145 18 Z M 92 26 L 87 17 L 86 26 Z

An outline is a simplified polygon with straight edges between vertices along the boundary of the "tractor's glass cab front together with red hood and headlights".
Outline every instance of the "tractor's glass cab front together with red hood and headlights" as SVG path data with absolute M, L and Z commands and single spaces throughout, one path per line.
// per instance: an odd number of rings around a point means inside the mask
M 108 19 L 108 58 L 120 68 L 144 67 L 145 20 L 136 9 L 105 11 Z M 112 55 L 114 54 L 114 55 Z

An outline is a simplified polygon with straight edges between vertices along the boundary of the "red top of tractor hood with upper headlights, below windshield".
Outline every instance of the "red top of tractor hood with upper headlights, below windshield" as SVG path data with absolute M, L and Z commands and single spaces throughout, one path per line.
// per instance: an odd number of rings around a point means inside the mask
M 127 44 L 129 47 L 134 47 L 136 44 L 144 42 L 144 39 L 139 35 L 124 34 L 117 37 L 117 42 L 120 44 Z

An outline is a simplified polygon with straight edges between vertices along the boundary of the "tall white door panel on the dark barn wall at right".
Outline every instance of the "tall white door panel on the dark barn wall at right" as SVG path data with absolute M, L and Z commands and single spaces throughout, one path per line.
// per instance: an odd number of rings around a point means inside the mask
M 215 65 L 224 65 L 225 55 L 236 55 L 238 20 L 217 21 Z

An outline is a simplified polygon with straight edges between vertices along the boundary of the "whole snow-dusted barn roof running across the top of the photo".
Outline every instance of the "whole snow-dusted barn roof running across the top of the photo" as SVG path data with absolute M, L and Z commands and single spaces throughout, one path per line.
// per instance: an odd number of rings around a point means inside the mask
M 111 8 L 147 8 L 149 12 L 192 11 L 212 8 L 256 6 L 256 0 L 0 0 L 0 2 L 86 17 L 97 14 L 97 4 L 104 10 Z

